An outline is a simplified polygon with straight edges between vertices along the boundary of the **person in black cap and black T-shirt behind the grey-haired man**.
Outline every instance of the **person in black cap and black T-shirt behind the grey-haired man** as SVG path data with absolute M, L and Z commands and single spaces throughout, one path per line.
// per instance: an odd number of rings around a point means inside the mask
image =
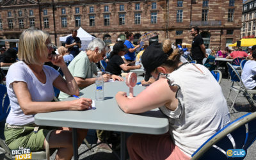
M 113 51 L 110 53 L 110 58 L 106 67 L 106 71 L 110 72 L 111 74 L 120 76 L 122 70 L 124 70 L 124 72 L 129 72 L 130 70 L 140 68 L 141 65 L 129 66 L 125 64 L 122 56 L 124 56 L 127 51 L 128 49 L 123 42 L 117 42 L 113 47 Z

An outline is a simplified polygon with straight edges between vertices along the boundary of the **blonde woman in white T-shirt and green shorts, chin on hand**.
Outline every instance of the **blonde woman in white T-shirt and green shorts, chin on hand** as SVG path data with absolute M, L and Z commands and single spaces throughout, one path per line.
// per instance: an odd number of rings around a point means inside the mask
M 58 148 L 56 159 L 71 159 L 72 132 L 68 128 L 51 131 L 49 127 L 35 127 L 35 114 L 60 110 L 83 110 L 91 108 L 91 99 L 76 99 L 67 102 L 51 102 L 55 86 L 70 95 L 79 95 L 74 77 L 70 74 L 62 56 L 52 55 L 51 38 L 48 33 L 29 28 L 22 32 L 19 40 L 19 62 L 13 64 L 6 76 L 7 92 L 11 110 L 6 118 L 4 136 L 10 149 L 30 148 L 44 150 L 45 137 L 49 133 L 49 148 Z M 44 63 L 51 61 L 61 67 L 66 80 Z M 77 143 L 86 136 L 79 129 Z

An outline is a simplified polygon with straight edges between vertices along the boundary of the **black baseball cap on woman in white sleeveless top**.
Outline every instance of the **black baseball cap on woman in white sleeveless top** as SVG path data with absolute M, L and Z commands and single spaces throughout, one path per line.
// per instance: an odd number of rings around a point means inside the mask
M 167 58 L 168 54 L 164 53 L 162 44 L 153 43 L 147 47 L 141 56 L 141 62 L 146 71 L 145 81 L 148 81 L 151 72 L 162 65 Z

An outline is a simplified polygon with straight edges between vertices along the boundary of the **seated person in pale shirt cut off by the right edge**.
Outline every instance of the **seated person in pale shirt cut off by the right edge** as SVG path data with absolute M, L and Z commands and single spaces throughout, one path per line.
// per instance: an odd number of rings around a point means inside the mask
M 246 61 L 244 64 L 241 79 L 244 86 L 249 90 L 256 89 L 256 50 L 252 52 L 252 60 Z

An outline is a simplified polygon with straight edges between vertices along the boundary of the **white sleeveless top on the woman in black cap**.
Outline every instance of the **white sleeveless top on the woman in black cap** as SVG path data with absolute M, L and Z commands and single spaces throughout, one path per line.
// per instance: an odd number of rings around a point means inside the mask
M 202 70 L 198 70 L 198 68 Z M 221 86 L 203 65 L 182 65 L 167 76 L 178 86 L 179 106 L 175 111 L 161 107 L 168 116 L 170 134 L 180 150 L 191 157 L 214 133 L 230 122 Z

